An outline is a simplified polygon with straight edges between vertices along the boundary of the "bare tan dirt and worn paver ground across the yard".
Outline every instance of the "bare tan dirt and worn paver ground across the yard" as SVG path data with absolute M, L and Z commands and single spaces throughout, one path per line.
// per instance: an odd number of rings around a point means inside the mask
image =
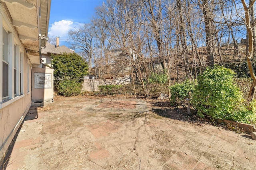
M 56 97 L 31 107 L 6 170 L 255 170 L 256 141 L 168 102 Z

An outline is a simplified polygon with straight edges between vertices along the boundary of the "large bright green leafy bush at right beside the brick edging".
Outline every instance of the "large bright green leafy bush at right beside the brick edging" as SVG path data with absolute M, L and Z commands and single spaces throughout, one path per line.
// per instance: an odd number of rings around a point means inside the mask
M 198 115 L 244 123 L 255 119 L 254 112 L 244 105 L 242 92 L 234 84 L 235 75 L 234 71 L 222 66 L 206 68 L 198 77 L 198 85 L 192 95 L 192 104 Z

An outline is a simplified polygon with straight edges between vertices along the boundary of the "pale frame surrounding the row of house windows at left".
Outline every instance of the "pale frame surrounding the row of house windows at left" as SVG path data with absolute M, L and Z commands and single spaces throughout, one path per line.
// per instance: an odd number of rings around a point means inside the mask
M 3 97 L 3 39 L 2 33 L 7 32 L 8 56 L 8 96 Z M 24 55 L 18 35 L 12 25 L 6 20 L 5 15 L 0 15 L 0 109 L 23 98 L 24 95 Z M 7 69 L 6 69 L 7 70 Z M 14 77 L 14 70 L 16 76 Z M 16 80 L 16 81 L 15 81 Z M 15 83 L 16 82 L 16 83 Z M 15 83 L 15 84 L 14 84 Z M 15 89 L 14 89 L 15 88 Z

